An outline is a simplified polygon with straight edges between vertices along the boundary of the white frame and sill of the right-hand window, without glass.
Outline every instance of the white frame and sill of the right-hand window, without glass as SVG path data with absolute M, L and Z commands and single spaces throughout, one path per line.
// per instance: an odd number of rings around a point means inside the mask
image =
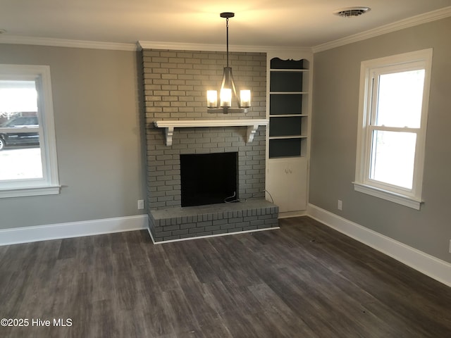
M 420 209 L 423 185 L 424 149 L 426 144 L 426 124 L 428 120 L 429 88 L 431 84 L 432 49 L 397 54 L 385 58 L 363 61 L 360 68 L 359 125 L 357 129 L 357 160 L 354 190 L 376 196 L 381 199 Z M 390 73 L 407 70 L 424 69 L 424 91 L 419 128 L 409 127 L 375 127 L 372 125 L 371 110 L 376 102 L 376 90 L 373 86 L 374 76 L 390 70 Z M 416 133 L 414 159 L 414 177 L 412 189 L 404 189 L 393 184 L 371 180 L 371 139 L 373 130 Z

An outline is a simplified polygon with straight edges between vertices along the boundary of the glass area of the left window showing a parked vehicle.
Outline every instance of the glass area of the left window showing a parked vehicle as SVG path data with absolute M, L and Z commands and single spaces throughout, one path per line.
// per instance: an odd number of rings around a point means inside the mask
M 0 180 L 42 178 L 35 81 L 0 80 L 0 128 Z

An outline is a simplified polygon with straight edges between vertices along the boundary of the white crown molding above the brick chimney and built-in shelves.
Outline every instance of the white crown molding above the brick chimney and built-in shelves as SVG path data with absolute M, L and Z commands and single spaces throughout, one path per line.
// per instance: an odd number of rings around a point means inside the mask
M 141 49 L 168 49 L 177 51 L 226 51 L 225 44 L 185 44 L 180 42 L 155 42 L 138 41 L 137 48 Z M 231 51 L 250 53 L 267 53 L 271 51 L 305 51 L 311 53 L 311 47 L 289 47 L 289 46 L 242 46 L 230 45 Z

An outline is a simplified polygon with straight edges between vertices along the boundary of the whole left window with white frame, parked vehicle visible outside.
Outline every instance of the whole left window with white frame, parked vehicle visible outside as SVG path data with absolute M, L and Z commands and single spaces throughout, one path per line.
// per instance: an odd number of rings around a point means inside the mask
M 50 68 L 0 65 L 0 197 L 59 189 Z

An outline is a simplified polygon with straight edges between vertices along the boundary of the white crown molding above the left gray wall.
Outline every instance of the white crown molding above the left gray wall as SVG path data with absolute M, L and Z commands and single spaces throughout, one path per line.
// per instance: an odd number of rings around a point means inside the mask
M 1 35 L 0 44 L 31 44 L 37 46 L 56 46 L 87 49 L 109 49 L 114 51 L 136 51 L 136 44 L 121 44 L 116 42 L 98 42 L 70 39 L 53 39 L 50 37 L 20 37 Z

